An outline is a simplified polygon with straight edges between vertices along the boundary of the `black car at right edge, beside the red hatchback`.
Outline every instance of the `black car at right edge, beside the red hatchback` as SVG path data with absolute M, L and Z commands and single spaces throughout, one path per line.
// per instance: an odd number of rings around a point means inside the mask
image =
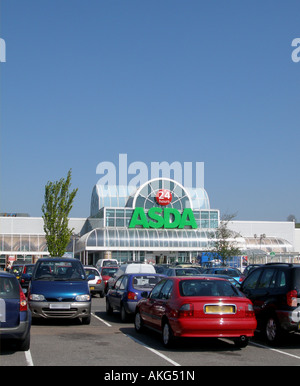
M 269 344 L 300 331 L 300 265 L 269 263 L 246 277 L 240 290 L 252 301 L 258 330 Z

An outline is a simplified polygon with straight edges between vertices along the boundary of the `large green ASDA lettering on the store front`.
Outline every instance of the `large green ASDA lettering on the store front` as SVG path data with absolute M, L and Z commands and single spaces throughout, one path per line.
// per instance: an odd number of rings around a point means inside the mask
M 129 228 L 141 225 L 143 228 L 183 229 L 185 226 L 197 228 L 192 209 L 186 208 L 181 214 L 175 208 L 153 207 L 148 211 L 148 218 L 143 208 L 135 208 Z

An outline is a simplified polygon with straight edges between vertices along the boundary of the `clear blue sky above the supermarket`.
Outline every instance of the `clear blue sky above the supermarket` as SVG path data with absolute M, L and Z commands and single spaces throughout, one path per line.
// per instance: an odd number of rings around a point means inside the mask
M 300 2 L 1 0 L 0 211 L 41 216 L 72 168 L 204 162 L 211 208 L 300 221 Z

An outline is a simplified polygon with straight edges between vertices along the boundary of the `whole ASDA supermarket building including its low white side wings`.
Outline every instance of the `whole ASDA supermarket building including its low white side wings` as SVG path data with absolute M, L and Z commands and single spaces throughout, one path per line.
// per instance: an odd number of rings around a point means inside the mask
M 212 249 L 220 211 L 210 208 L 204 188 L 187 188 L 170 178 L 154 178 L 134 191 L 97 184 L 90 216 L 70 218 L 74 228 L 67 255 L 84 264 L 100 258 L 147 263 L 202 261 Z M 249 262 L 298 262 L 300 233 L 293 222 L 232 221 L 238 246 Z M 0 216 L 0 268 L 13 261 L 47 256 L 41 217 Z

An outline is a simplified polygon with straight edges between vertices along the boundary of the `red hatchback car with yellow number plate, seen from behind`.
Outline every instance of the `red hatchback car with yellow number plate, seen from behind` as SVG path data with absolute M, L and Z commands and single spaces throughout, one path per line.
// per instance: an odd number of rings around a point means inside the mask
M 137 332 L 161 332 L 165 347 L 176 337 L 232 338 L 245 347 L 257 325 L 251 301 L 228 280 L 199 276 L 161 280 L 137 304 L 134 323 Z

